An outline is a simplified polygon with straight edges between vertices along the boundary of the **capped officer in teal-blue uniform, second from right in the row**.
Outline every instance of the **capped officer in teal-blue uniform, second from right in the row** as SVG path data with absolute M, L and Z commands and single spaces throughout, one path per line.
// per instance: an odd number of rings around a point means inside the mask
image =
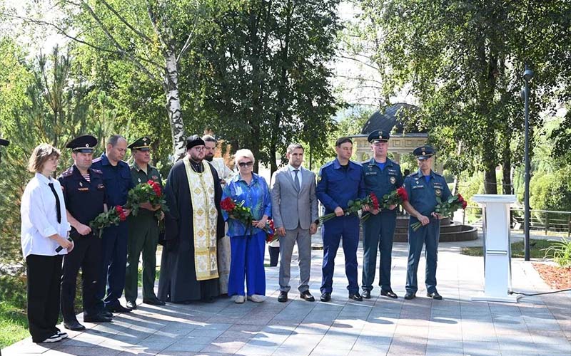
M 403 185 L 403 174 L 400 166 L 387 157 L 390 135 L 382 130 L 370 133 L 368 141 L 373 149 L 374 157 L 363 163 L 365 174 L 365 190 L 373 192 L 378 199 L 390 194 Z M 379 286 L 380 295 L 398 298 L 390 287 L 390 266 L 393 254 L 393 236 L 397 219 L 396 206 L 393 209 L 370 211 L 371 216 L 363 224 L 363 298 L 370 298 L 375 281 L 377 265 L 377 248 L 380 251 Z

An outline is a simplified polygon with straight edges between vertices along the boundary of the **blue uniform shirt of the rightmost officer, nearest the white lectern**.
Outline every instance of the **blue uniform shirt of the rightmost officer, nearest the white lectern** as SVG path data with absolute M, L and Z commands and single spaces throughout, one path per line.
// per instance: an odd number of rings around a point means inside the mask
M 438 204 L 436 197 L 445 200 L 451 195 L 448 184 L 446 184 L 443 176 L 431 170 L 429 177 L 430 180 L 427 183 L 423 172 L 420 172 L 419 169 L 418 172 L 409 174 L 403 184 L 403 187 L 405 187 L 408 193 L 408 202 L 410 205 L 420 214 L 428 217 L 430 217 L 436 204 Z M 410 219 L 416 221 L 414 216 L 410 216 Z

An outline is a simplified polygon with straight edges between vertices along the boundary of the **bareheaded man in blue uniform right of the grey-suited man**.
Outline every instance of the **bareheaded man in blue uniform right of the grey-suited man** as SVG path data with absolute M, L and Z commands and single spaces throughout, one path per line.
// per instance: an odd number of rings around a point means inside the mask
M 359 294 L 357 282 L 357 247 L 359 245 L 359 217 L 356 214 L 345 216 L 343 209 L 348 201 L 365 197 L 363 167 L 350 161 L 353 154 L 353 141 L 349 137 L 341 137 L 335 142 L 337 158 L 321 167 L 315 195 L 325 206 L 325 214 L 335 212 L 335 217 L 323 223 L 323 266 L 321 281 L 321 301 L 331 299 L 333 291 L 333 269 L 335 255 L 343 237 L 343 253 L 345 253 L 345 275 L 349 281 L 347 289 L 349 298 L 363 300 Z M 365 208 L 365 210 L 368 208 Z

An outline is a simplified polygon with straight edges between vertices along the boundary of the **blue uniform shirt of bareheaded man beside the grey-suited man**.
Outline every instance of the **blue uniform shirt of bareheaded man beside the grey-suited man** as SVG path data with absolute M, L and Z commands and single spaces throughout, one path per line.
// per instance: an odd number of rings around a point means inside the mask
M 347 209 L 348 201 L 362 199 L 367 195 L 363 167 L 349 161 L 345 170 L 337 158 L 325 163 L 319 170 L 315 195 L 325 206 L 325 214 L 333 212 L 337 206 Z

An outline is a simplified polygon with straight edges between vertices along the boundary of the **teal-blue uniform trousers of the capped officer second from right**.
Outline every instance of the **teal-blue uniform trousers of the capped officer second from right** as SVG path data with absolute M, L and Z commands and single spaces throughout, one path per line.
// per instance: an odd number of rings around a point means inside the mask
M 363 224 L 363 290 L 373 290 L 377 249 L 380 251 L 380 290 L 391 290 L 390 267 L 392 266 L 395 225 L 395 211 L 383 211 L 377 215 L 371 214 Z

